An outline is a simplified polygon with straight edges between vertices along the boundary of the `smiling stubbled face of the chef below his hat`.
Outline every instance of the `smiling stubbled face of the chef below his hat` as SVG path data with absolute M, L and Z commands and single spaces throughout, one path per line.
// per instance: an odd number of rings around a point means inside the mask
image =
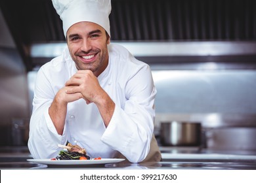
M 105 29 L 93 22 L 79 22 L 67 31 L 68 50 L 78 70 L 100 75 L 108 66 L 110 38 Z

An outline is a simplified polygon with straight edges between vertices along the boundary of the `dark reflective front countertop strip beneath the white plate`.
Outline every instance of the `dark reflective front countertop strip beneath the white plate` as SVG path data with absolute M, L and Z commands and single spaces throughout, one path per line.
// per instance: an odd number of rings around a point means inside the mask
M 239 169 L 256 170 L 255 162 L 161 161 L 147 163 L 109 163 L 105 165 L 47 166 L 28 161 L 1 162 L 0 169 Z

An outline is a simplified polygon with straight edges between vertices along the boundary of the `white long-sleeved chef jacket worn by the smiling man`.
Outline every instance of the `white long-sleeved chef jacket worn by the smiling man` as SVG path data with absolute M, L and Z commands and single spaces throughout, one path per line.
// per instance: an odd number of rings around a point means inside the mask
M 98 76 L 100 86 L 116 104 L 108 127 L 94 103 L 68 103 L 64 132 L 58 135 L 49 116 L 54 96 L 77 69 L 68 48 L 43 65 L 38 73 L 30 120 L 28 148 L 33 158 L 55 158 L 58 144 L 78 144 L 91 158 L 123 154 L 131 162 L 146 158 L 154 131 L 156 89 L 150 67 L 123 46 L 108 45 L 109 63 Z

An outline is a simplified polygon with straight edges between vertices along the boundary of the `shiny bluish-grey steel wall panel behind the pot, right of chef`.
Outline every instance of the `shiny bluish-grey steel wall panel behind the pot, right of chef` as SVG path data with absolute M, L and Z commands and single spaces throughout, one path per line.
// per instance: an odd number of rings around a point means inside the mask
M 153 71 L 156 123 L 200 121 L 207 127 L 256 126 L 256 71 Z

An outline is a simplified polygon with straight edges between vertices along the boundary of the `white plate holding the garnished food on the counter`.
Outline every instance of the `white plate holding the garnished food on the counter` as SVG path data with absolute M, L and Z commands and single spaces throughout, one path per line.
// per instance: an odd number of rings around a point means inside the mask
M 125 159 L 117 158 L 102 158 L 102 159 L 87 159 L 87 160 L 51 160 L 51 159 L 27 159 L 32 163 L 40 163 L 45 165 L 97 165 L 106 163 L 118 163 Z

